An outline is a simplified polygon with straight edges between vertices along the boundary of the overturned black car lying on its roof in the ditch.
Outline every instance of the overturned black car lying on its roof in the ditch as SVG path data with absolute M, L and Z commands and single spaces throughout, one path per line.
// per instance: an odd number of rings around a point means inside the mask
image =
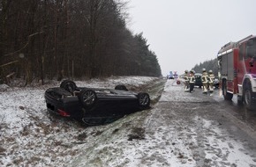
M 50 112 L 81 120 L 87 126 L 106 124 L 150 107 L 146 92 L 128 91 L 122 84 L 115 89 L 77 87 L 71 80 L 45 91 L 45 101 Z

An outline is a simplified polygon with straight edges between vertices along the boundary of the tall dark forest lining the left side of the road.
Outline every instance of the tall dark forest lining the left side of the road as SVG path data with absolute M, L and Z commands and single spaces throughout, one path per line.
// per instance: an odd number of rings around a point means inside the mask
M 117 0 L 0 0 L 0 80 L 162 76 L 128 18 Z

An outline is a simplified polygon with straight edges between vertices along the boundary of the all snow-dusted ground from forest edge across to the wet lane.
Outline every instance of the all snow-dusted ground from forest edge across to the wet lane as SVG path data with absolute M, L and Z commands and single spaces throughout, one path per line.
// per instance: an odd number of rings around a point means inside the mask
M 76 84 L 108 88 L 125 84 L 132 89 L 155 79 L 117 77 Z M 152 109 L 98 127 L 82 127 L 47 113 L 44 91 L 58 84 L 2 87 L 0 166 L 255 167 L 256 153 L 245 148 L 245 141 L 196 113 L 198 104 L 211 98 L 184 93 L 182 85 L 173 81 L 166 82 L 160 102 Z

